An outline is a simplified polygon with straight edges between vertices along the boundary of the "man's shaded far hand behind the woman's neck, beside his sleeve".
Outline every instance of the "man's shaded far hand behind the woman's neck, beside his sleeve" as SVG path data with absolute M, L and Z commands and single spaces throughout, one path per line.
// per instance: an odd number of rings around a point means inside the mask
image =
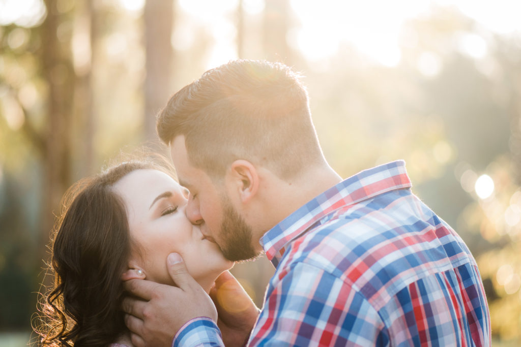
M 225 346 L 244 346 L 259 315 L 257 306 L 228 271 L 217 278 L 210 297 L 217 307 L 217 326 Z

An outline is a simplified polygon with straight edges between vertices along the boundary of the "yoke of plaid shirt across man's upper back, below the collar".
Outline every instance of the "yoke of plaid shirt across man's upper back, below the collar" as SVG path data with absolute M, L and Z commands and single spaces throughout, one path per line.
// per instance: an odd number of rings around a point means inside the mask
M 473 262 L 448 224 L 414 195 L 399 194 L 403 199 L 382 196 L 383 202 L 339 209 L 293 240 L 281 265 L 310 264 L 374 292 L 386 286 L 399 290 L 415 278 Z

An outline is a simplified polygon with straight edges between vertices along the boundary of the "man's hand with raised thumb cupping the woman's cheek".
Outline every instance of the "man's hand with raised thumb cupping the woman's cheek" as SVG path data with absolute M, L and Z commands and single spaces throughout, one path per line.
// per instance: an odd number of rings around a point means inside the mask
M 130 279 L 124 284 L 135 296 L 123 299 L 122 308 L 127 313 L 125 324 L 132 343 L 137 347 L 170 347 L 177 331 L 190 319 L 217 320 L 212 300 L 188 274 L 181 256 L 169 254 L 167 267 L 177 287 L 143 279 Z

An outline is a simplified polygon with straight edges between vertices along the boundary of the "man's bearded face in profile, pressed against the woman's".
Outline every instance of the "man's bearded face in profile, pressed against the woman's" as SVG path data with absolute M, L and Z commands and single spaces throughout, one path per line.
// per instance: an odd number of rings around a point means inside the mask
M 258 252 L 252 247 L 252 228 L 233 207 L 224 184 L 216 186 L 206 172 L 190 164 L 183 135 L 171 142 L 170 155 L 179 183 L 190 191 L 188 219 L 217 243 L 228 260 L 255 258 Z

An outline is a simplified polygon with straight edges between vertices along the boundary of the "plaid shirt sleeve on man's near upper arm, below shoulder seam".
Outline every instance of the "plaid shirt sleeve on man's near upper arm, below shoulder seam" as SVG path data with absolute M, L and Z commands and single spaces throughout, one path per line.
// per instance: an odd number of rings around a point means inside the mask
M 387 345 L 381 317 L 340 278 L 306 263 L 277 273 L 249 346 Z

